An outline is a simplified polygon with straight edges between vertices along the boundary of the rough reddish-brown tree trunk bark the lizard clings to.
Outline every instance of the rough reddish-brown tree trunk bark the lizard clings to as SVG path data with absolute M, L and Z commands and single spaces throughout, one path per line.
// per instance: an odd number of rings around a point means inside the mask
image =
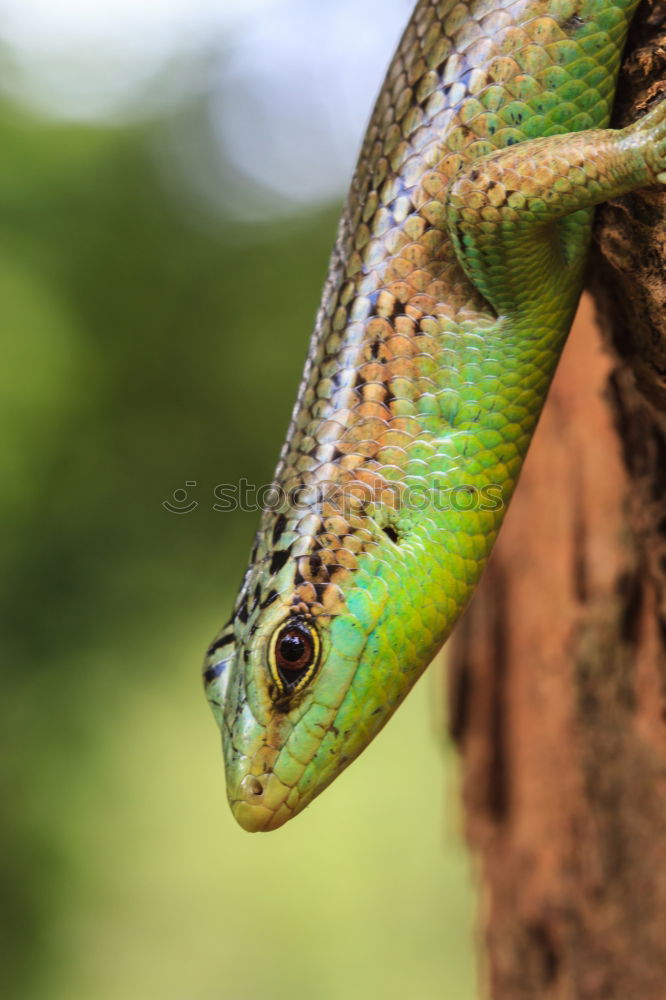
M 657 8 L 617 124 L 666 91 Z M 665 261 L 660 190 L 599 213 L 603 346 L 585 297 L 450 648 L 492 1000 L 666 1000 Z

